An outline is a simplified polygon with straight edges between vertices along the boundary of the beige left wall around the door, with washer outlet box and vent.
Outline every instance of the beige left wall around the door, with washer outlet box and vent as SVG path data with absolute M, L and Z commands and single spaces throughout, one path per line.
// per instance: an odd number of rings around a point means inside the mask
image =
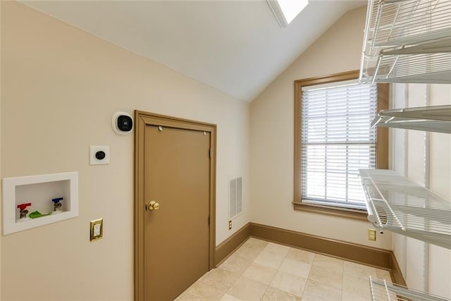
M 1 177 L 79 172 L 80 215 L 1 237 L 1 300 L 132 300 L 134 109 L 216 123 L 216 245 L 249 222 L 249 104 L 14 1 L 1 9 Z M 89 166 L 89 145 L 111 164 Z M 228 231 L 228 179 L 243 214 Z M 104 238 L 89 242 L 89 221 Z

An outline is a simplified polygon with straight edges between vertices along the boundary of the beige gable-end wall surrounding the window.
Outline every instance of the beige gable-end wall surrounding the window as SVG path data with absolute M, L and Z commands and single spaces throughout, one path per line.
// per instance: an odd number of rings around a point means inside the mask
M 367 240 L 366 221 L 294 211 L 293 81 L 359 68 L 366 8 L 345 14 L 251 104 L 252 221 L 390 249 L 390 233 Z

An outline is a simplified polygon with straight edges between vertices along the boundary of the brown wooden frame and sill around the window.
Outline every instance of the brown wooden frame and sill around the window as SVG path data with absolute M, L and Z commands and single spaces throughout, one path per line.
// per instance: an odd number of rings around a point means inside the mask
M 301 159 L 302 159 L 302 87 L 327 84 L 330 82 L 341 82 L 345 80 L 355 80 L 359 78 L 359 70 L 353 70 L 343 73 L 335 73 L 316 78 L 306 78 L 295 80 L 295 156 L 294 156 L 294 193 L 293 209 L 300 211 L 309 211 L 320 214 L 331 214 L 335 216 L 344 216 L 351 219 L 366 220 L 366 210 L 348 209 L 341 207 L 326 206 L 320 204 L 307 204 L 302 202 L 302 183 L 301 183 Z M 378 83 L 377 111 L 388 109 L 389 84 Z M 388 128 L 377 128 L 376 133 L 376 168 L 388 168 Z

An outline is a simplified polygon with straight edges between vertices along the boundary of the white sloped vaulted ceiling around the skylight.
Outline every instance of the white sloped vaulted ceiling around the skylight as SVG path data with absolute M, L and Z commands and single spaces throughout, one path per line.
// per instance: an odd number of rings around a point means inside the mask
M 247 102 L 344 13 L 366 5 L 310 0 L 281 28 L 265 0 L 20 2 Z

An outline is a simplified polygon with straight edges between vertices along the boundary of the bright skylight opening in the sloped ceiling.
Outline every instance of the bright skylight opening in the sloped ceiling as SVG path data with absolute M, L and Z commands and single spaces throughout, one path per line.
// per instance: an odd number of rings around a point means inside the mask
M 287 27 L 309 4 L 309 0 L 266 0 L 280 25 Z

